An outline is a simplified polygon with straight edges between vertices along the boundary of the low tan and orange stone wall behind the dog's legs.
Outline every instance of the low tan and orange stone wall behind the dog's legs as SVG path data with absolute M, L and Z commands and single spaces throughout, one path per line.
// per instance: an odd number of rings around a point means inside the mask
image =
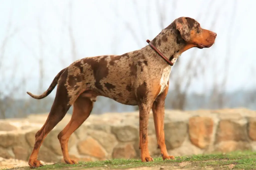
M 30 115 L 26 119 L 0 121 L 0 157 L 28 160 L 35 133 L 48 114 Z M 41 146 L 38 159 L 62 161 L 58 133 L 70 120 L 69 114 L 49 133 Z M 91 115 L 70 137 L 71 158 L 94 161 L 112 158 L 139 158 L 138 112 Z M 154 122 L 150 113 L 149 150 L 157 149 Z M 256 112 L 247 109 L 165 111 L 165 138 L 170 155 L 191 155 L 256 150 Z

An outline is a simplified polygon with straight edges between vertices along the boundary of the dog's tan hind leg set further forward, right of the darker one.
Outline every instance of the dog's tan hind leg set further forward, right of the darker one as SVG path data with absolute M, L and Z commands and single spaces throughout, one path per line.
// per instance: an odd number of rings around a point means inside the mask
M 67 126 L 59 133 L 58 139 L 60 141 L 63 159 L 67 164 L 76 164 L 77 162 L 71 160 L 68 154 L 68 140 L 71 134 L 81 126 L 81 124 L 89 117 L 93 108 L 93 102 L 90 98 L 78 97 L 73 104 L 73 114 Z

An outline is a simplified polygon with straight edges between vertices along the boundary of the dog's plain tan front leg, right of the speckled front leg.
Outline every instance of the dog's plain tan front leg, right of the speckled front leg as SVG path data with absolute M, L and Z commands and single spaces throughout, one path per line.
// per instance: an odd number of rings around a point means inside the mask
M 168 86 L 165 91 L 159 95 L 153 103 L 152 112 L 154 117 L 155 131 L 158 148 L 161 150 L 163 160 L 175 159 L 167 153 L 164 137 L 164 101 L 168 92 Z

